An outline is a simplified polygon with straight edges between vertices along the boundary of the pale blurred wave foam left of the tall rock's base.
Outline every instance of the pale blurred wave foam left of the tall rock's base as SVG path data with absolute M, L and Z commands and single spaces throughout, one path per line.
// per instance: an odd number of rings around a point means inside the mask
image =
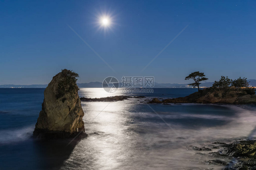
M 29 126 L 18 129 L 1 130 L 0 144 L 8 144 L 13 142 L 21 142 L 29 139 L 34 131 L 35 126 Z

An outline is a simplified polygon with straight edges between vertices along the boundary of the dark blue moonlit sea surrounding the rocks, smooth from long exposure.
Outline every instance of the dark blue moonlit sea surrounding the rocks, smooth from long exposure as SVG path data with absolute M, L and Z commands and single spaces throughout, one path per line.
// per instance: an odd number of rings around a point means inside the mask
M 152 94 L 107 93 L 81 88 L 80 97 L 146 96 L 113 102 L 81 102 L 88 137 L 41 141 L 31 138 L 43 91 L 0 88 L 0 169 L 223 169 L 235 163 L 221 146 L 256 137 L 255 105 L 149 104 L 154 97 L 187 96 L 196 89 L 155 88 Z M 162 117 L 166 123 L 156 114 Z M 211 151 L 191 146 L 220 147 Z M 218 165 L 219 159 L 228 165 Z

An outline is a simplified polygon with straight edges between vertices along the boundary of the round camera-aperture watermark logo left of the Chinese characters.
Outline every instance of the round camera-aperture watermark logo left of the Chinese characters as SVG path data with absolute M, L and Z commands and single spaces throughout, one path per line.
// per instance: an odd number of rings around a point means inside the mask
M 115 77 L 107 77 L 102 82 L 102 87 L 108 93 L 114 93 L 119 88 L 119 82 Z

